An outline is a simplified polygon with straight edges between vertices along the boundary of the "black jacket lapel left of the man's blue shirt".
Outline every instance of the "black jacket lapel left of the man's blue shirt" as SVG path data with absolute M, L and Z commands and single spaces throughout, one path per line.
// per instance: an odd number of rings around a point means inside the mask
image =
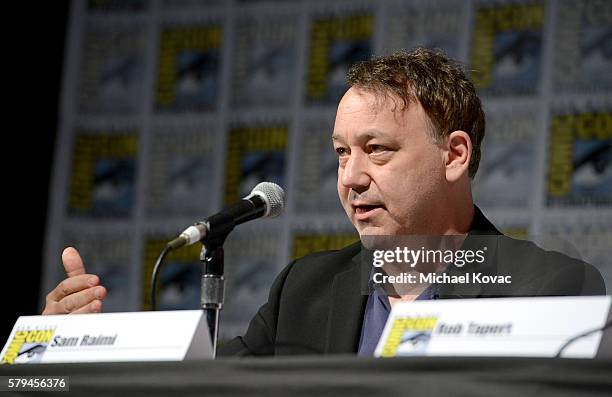
M 368 299 L 366 286 L 370 270 L 361 266 L 362 252 L 352 258 L 350 269 L 334 277 L 325 347 L 328 354 L 357 351 Z

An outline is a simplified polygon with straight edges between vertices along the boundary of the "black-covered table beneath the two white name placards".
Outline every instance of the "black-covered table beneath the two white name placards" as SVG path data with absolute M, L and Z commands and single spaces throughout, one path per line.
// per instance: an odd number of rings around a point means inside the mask
M 68 375 L 68 394 L 45 393 L 59 396 L 612 396 L 610 359 L 293 356 L 13 365 L 0 375 Z

